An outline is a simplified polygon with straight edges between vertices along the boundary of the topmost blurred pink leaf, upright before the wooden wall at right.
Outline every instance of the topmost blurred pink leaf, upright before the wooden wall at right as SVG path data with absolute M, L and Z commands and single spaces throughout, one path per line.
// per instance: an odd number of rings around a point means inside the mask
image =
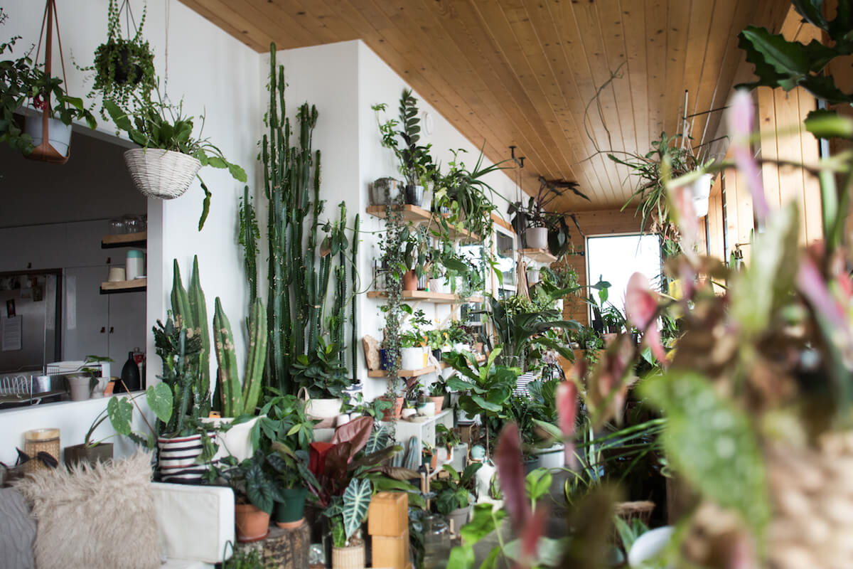
M 752 133 L 752 117 L 755 108 L 752 105 L 752 96 L 747 90 L 737 90 L 732 97 L 726 115 L 728 123 L 728 135 L 731 136 L 731 151 L 734 165 L 746 179 L 746 185 L 752 195 L 752 206 L 758 221 L 763 222 L 769 215 L 770 208 L 764 197 L 764 187 L 761 178 L 761 169 L 752 154 L 750 135 Z

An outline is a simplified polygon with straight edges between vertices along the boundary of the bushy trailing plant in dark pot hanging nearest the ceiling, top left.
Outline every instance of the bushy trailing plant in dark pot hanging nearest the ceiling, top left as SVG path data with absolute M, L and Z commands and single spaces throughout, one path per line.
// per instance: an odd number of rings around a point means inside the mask
M 78 67 L 82 72 L 95 72 L 90 97 L 100 93 L 102 102 L 112 101 L 119 107 L 136 110 L 137 102 L 148 100 L 151 91 L 157 88 L 154 53 L 142 38 L 147 14 L 148 6 L 143 5 L 142 18 L 136 26 L 131 3 L 122 2 L 119 6 L 118 0 L 109 0 L 107 41 L 95 49 L 95 61 L 90 67 Z M 121 29 L 122 19 L 128 26 L 126 38 Z M 106 119 L 103 106 L 101 113 Z

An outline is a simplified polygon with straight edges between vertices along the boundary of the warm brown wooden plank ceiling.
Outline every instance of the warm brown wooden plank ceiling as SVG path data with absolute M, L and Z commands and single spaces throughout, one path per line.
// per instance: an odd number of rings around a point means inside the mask
M 645 154 L 684 114 L 722 107 L 747 24 L 778 31 L 789 0 L 181 0 L 259 52 L 362 39 L 493 161 L 525 156 L 522 188 L 571 180 L 621 207 L 635 181 L 600 150 Z M 585 109 L 596 90 L 600 104 Z M 688 91 L 687 113 L 684 92 Z M 693 145 L 721 113 L 688 119 Z M 379 143 L 377 138 L 377 144 Z M 473 160 L 472 160 L 473 161 Z M 515 176 L 513 171 L 508 174 Z

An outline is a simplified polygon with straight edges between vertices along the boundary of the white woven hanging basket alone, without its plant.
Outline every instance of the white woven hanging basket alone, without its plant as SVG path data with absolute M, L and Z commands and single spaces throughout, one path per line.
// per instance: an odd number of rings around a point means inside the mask
M 128 150 L 125 164 L 136 189 L 146 197 L 160 200 L 183 195 L 201 167 L 201 162 L 189 154 L 160 148 Z

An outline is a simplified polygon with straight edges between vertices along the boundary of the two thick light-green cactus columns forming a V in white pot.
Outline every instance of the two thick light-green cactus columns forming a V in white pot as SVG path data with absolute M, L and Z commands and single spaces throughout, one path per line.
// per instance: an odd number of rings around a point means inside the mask
M 231 332 L 228 316 L 225 316 L 222 310 L 219 297 L 213 312 L 213 340 L 219 364 L 218 380 L 223 416 L 251 415 L 258 406 L 266 361 L 267 321 L 261 299 L 255 299 L 249 314 L 249 345 L 246 373 L 242 382 L 237 371 L 234 334 Z

